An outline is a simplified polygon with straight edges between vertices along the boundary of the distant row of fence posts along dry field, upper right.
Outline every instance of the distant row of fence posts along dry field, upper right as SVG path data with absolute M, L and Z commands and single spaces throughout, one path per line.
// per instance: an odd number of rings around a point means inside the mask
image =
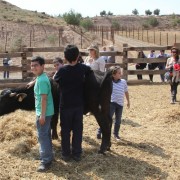
M 144 28 L 132 27 L 119 27 L 113 28 L 111 26 L 95 26 L 89 29 L 91 33 L 101 36 L 102 46 L 104 45 L 104 39 L 109 39 L 112 43 L 115 43 L 115 34 L 127 38 L 141 40 L 143 42 L 153 43 L 157 45 L 170 45 L 180 40 L 179 31 L 160 31 L 149 30 Z

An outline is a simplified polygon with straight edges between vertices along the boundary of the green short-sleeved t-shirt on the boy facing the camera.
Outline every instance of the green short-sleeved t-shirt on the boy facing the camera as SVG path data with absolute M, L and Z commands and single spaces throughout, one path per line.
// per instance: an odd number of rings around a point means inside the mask
M 41 115 L 41 95 L 47 94 L 47 106 L 46 106 L 46 116 L 52 116 L 54 114 L 54 104 L 51 92 L 51 84 L 49 78 L 45 73 L 42 73 L 36 78 L 36 83 L 34 86 L 35 95 L 35 108 L 36 115 Z

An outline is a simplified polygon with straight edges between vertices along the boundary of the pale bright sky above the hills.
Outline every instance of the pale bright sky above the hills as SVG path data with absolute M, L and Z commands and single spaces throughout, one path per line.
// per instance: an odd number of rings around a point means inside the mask
M 131 15 L 137 9 L 139 15 L 145 10 L 160 9 L 160 15 L 180 14 L 180 0 L 6 0 L 22 9 L 62 15 L 70 10 L 83 17 L 99 16 L 103 10 L 113 15 Z

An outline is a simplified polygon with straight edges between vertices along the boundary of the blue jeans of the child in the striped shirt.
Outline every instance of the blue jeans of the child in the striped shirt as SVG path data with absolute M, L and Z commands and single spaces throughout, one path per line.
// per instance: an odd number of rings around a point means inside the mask
M 115 114 L 114 132 L 113 132 L 113 134 L 115 136 L 119 136 L 119 129 L 120 129 L 120 125 L 121 125 L 122 112 L 123 112 L 123 106 L 121 106 L 115 102 L 111 102 L 111 104 L 110 104 L 110 116 L 112 118 L 113 115 Z M 100 128 L 98 129 L 98 134 L 101 134 Z

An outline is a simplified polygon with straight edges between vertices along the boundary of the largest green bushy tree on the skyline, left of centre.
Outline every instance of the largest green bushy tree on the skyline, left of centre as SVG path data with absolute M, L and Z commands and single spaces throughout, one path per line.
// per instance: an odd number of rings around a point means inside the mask
M 63 14 L 63 19 L 69 25 L 79 26 L 82 15 L 80 13 L 75 13 L 73 10 L 70 10 L 68 13 Z

